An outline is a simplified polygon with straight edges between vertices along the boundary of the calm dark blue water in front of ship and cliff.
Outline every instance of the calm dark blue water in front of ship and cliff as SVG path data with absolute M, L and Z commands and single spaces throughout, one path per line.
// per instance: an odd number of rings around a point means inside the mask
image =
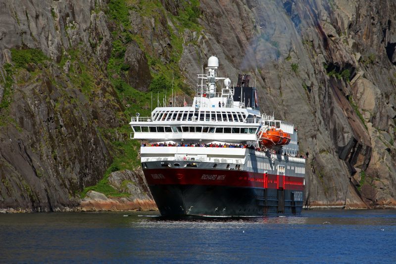
M 157 215 L 0 214 L 0 262 L 396 263 L 396 211 L 187 220 Z

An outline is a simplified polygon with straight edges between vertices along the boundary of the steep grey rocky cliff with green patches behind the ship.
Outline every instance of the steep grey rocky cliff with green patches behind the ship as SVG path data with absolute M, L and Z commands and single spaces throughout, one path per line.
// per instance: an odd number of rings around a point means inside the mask
M 257 69 L 263 111 L 298 127 L 307 206 L 396 206 L 396 2 L 0 6 L 0 208 L 66 210 L 95 192 L 150 203 L 120 188 L 132 178 L 111 180 L 139 174 L 127 120 L 169 96 L 172 77 L 176 101 L 190 100 L 212 54 L 233 80 Z

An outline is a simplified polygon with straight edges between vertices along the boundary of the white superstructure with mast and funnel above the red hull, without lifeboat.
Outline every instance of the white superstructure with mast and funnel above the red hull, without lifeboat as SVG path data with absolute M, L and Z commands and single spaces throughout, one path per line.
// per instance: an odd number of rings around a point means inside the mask
M 146 142 L 141 148 L 142 162 L 192 160 L 209 162 L 209 167 L 215 163 L 216 166 L 228 164 L 233 169 L 245 166 L 266 171 L 276 170 L 268 165 L 274 159 L 282 162 L 287 158 L 301 164 L 297 170 L 302 172 L 305 159 L 297 158 L 297 133 L 293 124 L 261 114 L 256 107 L 254 87 L 234 87 L 229 78 L 218 77 L 217 57 L 211 56 L 207 65 L 206 72 L 198 74 L 197 94 L 192 105 L 156 107 L 151 116 L 137 114 L 131 118 L 133 138 Z M 251 94 L 246 94 L 246 90 Z M 290 143 L 271 150 L 260 146 L 258 131 L 271 127 L 288 133 Z M 262 160 L 257 161 L 260 157 Z M 292 170 L 291 166 L 287 167 Z

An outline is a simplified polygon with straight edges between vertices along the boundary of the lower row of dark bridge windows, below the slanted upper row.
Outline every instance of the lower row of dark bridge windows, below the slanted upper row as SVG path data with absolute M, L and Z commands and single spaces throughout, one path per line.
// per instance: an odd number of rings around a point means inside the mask
M 256 127 L 133 126 L 135 132 L 256 134 Z

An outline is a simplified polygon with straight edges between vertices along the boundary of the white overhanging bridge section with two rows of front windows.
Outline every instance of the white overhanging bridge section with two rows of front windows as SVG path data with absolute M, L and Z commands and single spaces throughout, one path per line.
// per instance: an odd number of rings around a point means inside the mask
M 259 112 L 226 107 L 157 107 L 149 117 L 132 117 L 134 138 L 149 141 L 247 142 L 256 140 Z

